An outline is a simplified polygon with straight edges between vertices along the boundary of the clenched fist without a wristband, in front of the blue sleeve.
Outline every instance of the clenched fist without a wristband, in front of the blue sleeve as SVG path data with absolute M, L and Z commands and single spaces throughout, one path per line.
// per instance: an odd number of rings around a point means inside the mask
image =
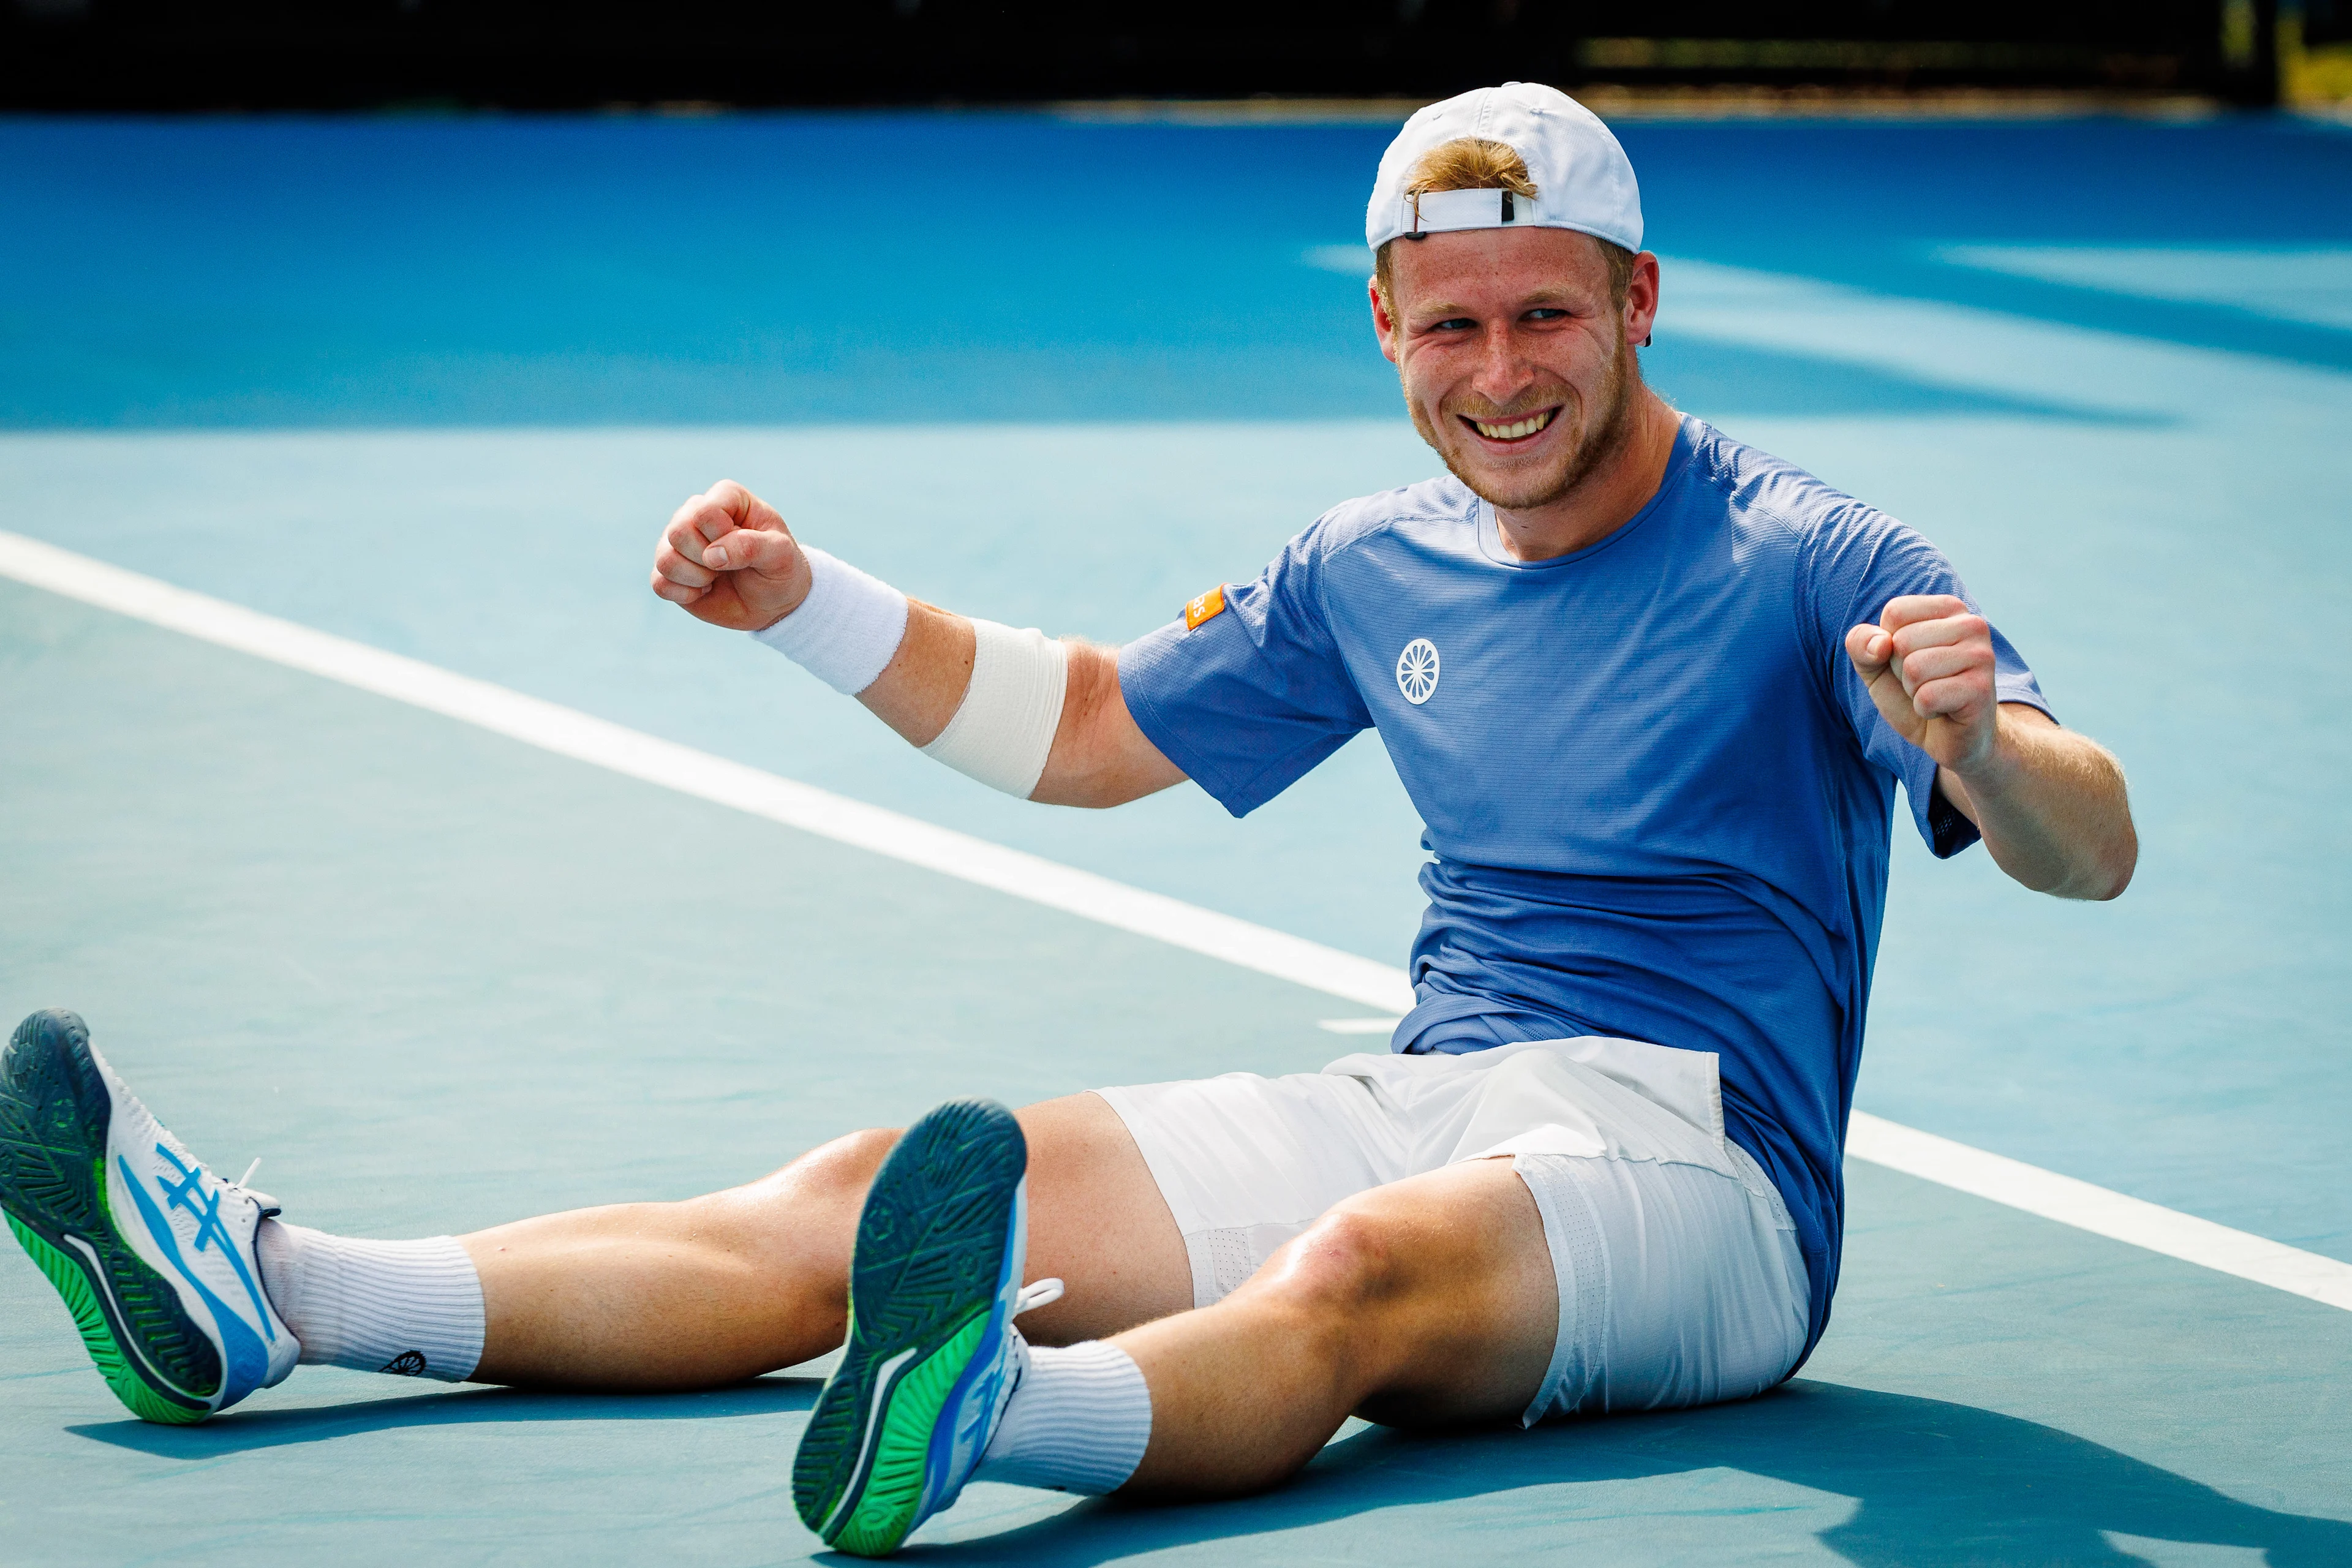
M 1896 733 L 1966 776 L 1992 759 L 1992 628 L 1952 595 L 1891 599 L 1846 632 L 1846 658 Z

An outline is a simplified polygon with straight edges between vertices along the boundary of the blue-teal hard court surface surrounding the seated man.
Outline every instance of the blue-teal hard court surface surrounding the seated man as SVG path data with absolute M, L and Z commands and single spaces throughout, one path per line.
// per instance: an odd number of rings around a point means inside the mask
M 1898 832 L 1893 1128 L 1780 1392 L 1352 1422 L 1204 1507 L 976 1486 L 908 1556 L 2352 1563 L 2352 134 L 1621 129 L 1649 378 L 1955 557 L 2124 757 L 2138 882 L 2037 900 Z M 1428 475 L 1362 320 L 1385 136 L 0 120 L 5 1023 L 80 1009 L 198 1154 L 383 1237 L 1376 1044 L 1421 856 L 1374 738 L 1240 823 L 1023 806 L 644 571 L 736 477 L 920 597 L 1122 639 Z M 2107 1199 L 2063 1178 L 2147 1208 L 2067 1222 Z M 818 1375 L 306 1368 L 146 1427 L 9 1251 L 0 1561 L 802 1561 Z

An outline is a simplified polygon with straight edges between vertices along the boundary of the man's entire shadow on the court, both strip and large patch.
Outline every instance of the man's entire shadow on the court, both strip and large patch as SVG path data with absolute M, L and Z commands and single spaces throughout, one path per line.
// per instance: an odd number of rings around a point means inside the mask
M 249 1410 L 202 1427 L 120 1420 L 71 1432 L 169 1460 L 221 1460 L 360 1432 L 440 1425 L 786 1415 L 807 1410 L 821 1387 L 814 1378 L 762 1378 L 708 1394 L 468 1389 Z M 1331 1443 L 1298 1481 L 1263 1497 L 1185 1507 L 1080 1502 L 1040 1523 L 957 1544 L 917 1544 L 906 1556 L 974 1568 L 1094 1568 L 1157 1549 L 1301 1530 L 1374 1509 L 1696 1472 L 1745 1472 L 1853 1497 L 1853 1514 L 1823 1530 L 1820 1542 L 1863 1568 L 2145 1563 L 2112 1544 L 2103 1535 L 2107 1530 L 2260 1549 L 2267 1552 L 2270 1568 L 2352 1561 L 2352 1523 L 2237 1502 L 2169 1469 L 2030 1420 L 1804 1380 L 1740 1406 L 1569 1422 L 1536 1432 L 1416 1436 L 1376 1427 Z M 1592 1502 L 1604 1505 L 1602 1519 L 1623 1514 L 1609 1500 L 1562 1497 L 1562 1547 L 1571 1547 L 1595 1519 Z M 1421 1519 L 1406 1514 L 1395 1528 L 1423 1535 L 1444 1528 L 1446 1519 L 1444 1512 Z M 1703 1516 L 1689 1514 L 1656 1523 L 1672 1530 L 1712 1528 Z M 1731 1526 L 1726 1519 L 1724 1528 Z

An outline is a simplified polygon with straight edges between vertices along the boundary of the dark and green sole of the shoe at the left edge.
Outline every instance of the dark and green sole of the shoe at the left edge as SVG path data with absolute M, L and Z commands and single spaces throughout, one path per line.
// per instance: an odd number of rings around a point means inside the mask
M 0 1053 L 0 1211 L 66 1300 L 115 1399 L 139 1420 L 186 1427 L 212 1415 L 221 1352 L 115 1229 L 113 1114 L 80 1018 L 47 1011 L 16 1025 Z

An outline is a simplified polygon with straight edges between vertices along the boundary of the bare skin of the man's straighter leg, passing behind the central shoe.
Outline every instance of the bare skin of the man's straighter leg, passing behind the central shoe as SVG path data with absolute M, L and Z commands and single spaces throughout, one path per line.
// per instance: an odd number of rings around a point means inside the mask
M 1028 1274 L 1068 1281 L 1023 1333 L 1068 1345 L 1190 1307 L 1183 1237 L 1117 1112 L 1082 1093 L 1018 1119 L 1030 1150 Z M 826 1354 L 847 1326 L 858 1208 L 896 1140 L 851 1133 L 746 1187 L 463 1237 L 487 1314 L 473 1380 L 696 1389 Z

